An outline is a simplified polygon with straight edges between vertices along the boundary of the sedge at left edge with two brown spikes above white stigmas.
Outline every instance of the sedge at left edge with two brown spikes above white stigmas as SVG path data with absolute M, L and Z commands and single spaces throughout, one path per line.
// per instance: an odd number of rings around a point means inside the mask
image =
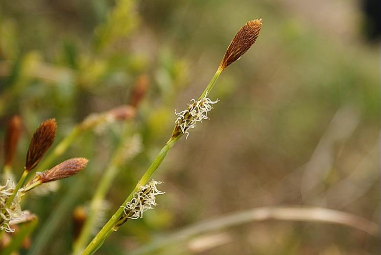
M 86 167 L 88 160 L 85 158 L 68 159 L 49 170 L 36 172 L 33 179 L 23 185 L 27 175 L 32 172 L 46 150 L 52 145 L 56 129 L 55 119 L 42 122 L 32 136 L 25 167 L 17 184 L 15 185 L 12 180 L 8 179 L 4 185 L 0 185 L 0 240 L 5 232 L 15 231 L 13 225 L 31 219 L 27 211 L 21 210 L 20 200 L 24 195 L 37 186 L 72 176 Z M 14 132 L 11 131 L 10 133 Z M 8 143 L 7 149 L 11 153 L 14 153 L 17 140 L 11 139 Z

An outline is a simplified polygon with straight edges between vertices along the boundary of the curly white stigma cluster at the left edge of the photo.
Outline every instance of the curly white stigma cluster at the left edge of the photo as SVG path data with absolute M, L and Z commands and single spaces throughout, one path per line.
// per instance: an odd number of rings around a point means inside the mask
M 8 198 L 12 195 L 15 185 L 9 180 L 4 186 L 0 185 L 0 230 L 6 232 L 14 232 L 14 229 L 10 227 L 9 221 L 15 221 L 22 218 L 20 200 L 20 191 L 14 197 L 9 208 L 5 208 Z

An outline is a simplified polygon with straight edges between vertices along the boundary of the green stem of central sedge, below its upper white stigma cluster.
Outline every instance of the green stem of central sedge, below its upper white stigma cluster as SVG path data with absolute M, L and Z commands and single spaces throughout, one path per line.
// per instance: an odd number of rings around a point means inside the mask
M 152 177 L 152 174 L 155 172 L 155 170 L 159 167 L 165 156 L 168 154 L 170 149 L 175 145 L 177 140 L 180 139 L 182 135 L 170 139 L 164 147 L 160 150 L 159 154 L 156 156 L 152 164 L 149 166 L 147 171 L 141 176 L 141 179 L 139 180 L 138 184 L 135 186 L 133 191 L 130 193 L 130 195 L 127 197 L 127 199 L 123 202 L 122 205 L 124 205 L 126 202 L 130 201 L 135 194 L 135 192 L 139 189 L 140 185 L 145 185 Z M 99 247 L 103 244 L 104 240 L 113 232 L 114 226 L 116 222 L 119 220 L 119 218 L 123 214 L 123 208 L 120 207 L 114 215 L 111 216 L 109 221 L 102 227 L 102 230 L 98 232 L 98 234 L 92 239 L 92 241 L 87 245 L 86 249 L 82 252 L 82 255 L 92 254 L 96 252 Z

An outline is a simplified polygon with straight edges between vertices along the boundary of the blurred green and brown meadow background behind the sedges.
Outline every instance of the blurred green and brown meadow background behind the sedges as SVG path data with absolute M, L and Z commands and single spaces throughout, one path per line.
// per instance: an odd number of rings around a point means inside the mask
M 157 240 L 165 245 L 148 254 L 379 254 L 377 235 L 303 221 L 222 223 L 173 239 L 197 222 L 269 206 L 329 208 L 379 223 L 379 10 L 377 0 L 1 1 L 0 141 L 19 115 L 16 175 L 41 121 L 56 118 L 54 147 L 86 116 L 131 104 L 136 87 L 147 87 L 134 119 L 81 133 L 54 161 L 90 160 L 24 203 L 39 223 L 20 253 L 70 253 L 76 212 L 86 211 L 124 139 L 129 156 L 100 210 L 102 226 L 168 140 L 175 109 L 200 95 L 236 31 L 260 17 L 257 42 L 209 94 L 221 100 L 210 121 L 155 173 L 166 192 L 158 206 L 98 254 L 138 252 Z

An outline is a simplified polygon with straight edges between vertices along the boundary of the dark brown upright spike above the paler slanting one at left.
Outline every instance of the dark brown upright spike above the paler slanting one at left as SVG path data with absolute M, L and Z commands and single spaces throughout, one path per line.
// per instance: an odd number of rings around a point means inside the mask
M 40 162 L 46 150 L 52 145 L 56 135 L 57 123 L 55 119 L 45 120 L 34 132 L 29 144 L 25 170 L 30 171 Z

